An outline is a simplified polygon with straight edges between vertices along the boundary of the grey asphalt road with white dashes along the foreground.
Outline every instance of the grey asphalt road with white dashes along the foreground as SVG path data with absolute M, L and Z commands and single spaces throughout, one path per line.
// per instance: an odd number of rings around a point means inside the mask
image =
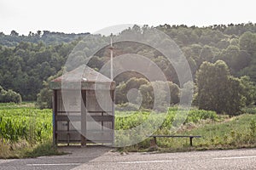
M 245 169 L 256 170 L 256 149 L 180 153 L 129 153 L 106 147 L 65 148 L 73 154 L 0 160 L 0 169 Z

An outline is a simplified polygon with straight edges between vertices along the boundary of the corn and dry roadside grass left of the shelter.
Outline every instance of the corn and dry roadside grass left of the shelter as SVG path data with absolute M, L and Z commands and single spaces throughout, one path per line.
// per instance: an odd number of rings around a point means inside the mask
M 60 154 L 51 139 L 51 110 L 38 110 L 32 103 L 0 104 L 0 158 Z

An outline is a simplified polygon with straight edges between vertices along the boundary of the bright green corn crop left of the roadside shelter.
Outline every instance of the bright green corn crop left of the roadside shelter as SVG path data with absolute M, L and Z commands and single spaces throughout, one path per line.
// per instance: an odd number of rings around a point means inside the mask
M 50 139 L 51 134 L 51 110 L 0 107 L 0 139 L 10 142 L 25 139 L 27 142 L 36 143 Z

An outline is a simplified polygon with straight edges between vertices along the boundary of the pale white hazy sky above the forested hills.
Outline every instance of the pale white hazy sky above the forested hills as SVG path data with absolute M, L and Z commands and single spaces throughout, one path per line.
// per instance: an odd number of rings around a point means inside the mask
M 256 23 L 255 0 L 0 0 L 0 31 L 95 32 L 119 24 Z

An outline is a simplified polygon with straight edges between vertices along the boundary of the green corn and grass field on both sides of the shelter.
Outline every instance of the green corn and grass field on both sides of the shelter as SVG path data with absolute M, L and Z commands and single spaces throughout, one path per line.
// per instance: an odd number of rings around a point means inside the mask
M 147 120 L 148 126 L 156 126 L 158 120 L 165 118 L 156 134 L 172 134 L 170 128 L 175 119 L 177 107 L 169 109 L 167 115 L 148 111 L 116 111 L 115 129 L 131 129 Z M 255 109 L 247 110 L 255 113 Z M 165 116 L 165 117 L 163 117 Z M 143 129 L 142 129 L 143 130 Z M 194 146 L 189 146 L 189 139 L 157 139 L 159 150 L 208 150 L 231 149 L 256 146 L 256 114 L 241 116 L 218 116 L 214 111 L 200 111 L 195 108 L 183 126 L 175 134 L 201 135 L 194 139 Z M 131 134 L 132 135 L 132 134 Z M 119 134 L 116 141 L 129 142 L 139 136 L 124 136 Z M 38 110 L 30 103 L 21 105 L 0 104 L 0 158 L 34 157 L 60 154 L 53 150 L 52 112 Z M 127 140 L 127 141 L 125 141 Z M 148 150 L 150 139 L 139 144 L 127 146 L 120 150 Z

